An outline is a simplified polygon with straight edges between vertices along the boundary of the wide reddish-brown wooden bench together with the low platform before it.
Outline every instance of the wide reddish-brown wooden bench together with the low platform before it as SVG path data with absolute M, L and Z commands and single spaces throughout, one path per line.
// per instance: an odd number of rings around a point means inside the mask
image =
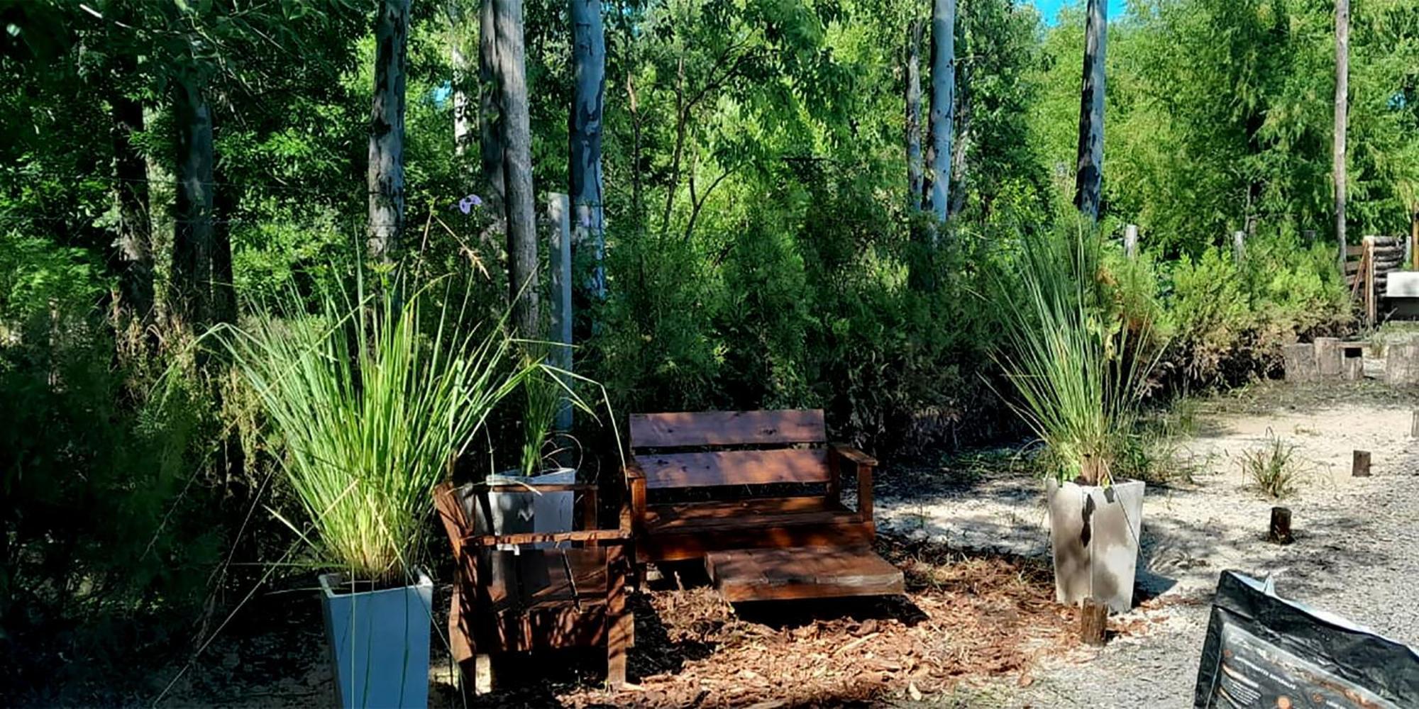
M 702 559 L 731 601 L 902 593 L 871 550 L 877 461 L 829 444 L 823 411 L 633 414 L 630 447 L 637 563 Z M 844 467 L 856 509 L 840 499 Z

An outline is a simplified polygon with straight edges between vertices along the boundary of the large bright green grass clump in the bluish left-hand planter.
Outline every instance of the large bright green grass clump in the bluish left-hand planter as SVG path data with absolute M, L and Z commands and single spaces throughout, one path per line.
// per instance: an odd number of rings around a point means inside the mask
M 216 332 L 267 417 L 315 563 L 376 587 L 413 577 L 433 488 L 541 364 L 467 302 L 385 285 L 289 294 Z

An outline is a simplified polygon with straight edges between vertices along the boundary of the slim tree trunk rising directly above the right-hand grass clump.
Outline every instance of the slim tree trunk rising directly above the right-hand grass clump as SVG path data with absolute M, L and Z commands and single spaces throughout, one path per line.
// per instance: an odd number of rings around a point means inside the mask
M 1104 180 L 1104 51 L 1108 44 L 1108 6 L 1088 0 L 1084 26 L 1084 86 L 1078 99 L 1078 166 L 1074 206 L 1098 221 Z

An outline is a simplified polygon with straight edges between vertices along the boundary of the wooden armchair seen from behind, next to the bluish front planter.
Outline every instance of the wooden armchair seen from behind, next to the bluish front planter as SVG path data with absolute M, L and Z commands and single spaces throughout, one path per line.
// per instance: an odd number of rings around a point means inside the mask
M 538 491 L 580 492 L 586 529 L 478 535 L 467 486 L 444 482 L 434 491 L 457 560 L 448 645 L 460 669 L 473 676 L 474 693 L 492 689 L 494 654 L 534 649 L 604 647 L 606 682 L 626 682 L 626 649 L 636 642 L 626 607 L 630 512 L 622 512 L 619 529 L 595 529 L 595 485 Z

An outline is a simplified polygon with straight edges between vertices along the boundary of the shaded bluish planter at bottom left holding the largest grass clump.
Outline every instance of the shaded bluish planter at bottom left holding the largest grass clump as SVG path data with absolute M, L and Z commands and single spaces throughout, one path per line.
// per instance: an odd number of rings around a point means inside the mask
M 429 628 L 434 583 L 419 570 L 413 586 L 350 591 L 345 574 L 321 576 L 325 640 L 339 706 L 429 706 Z

